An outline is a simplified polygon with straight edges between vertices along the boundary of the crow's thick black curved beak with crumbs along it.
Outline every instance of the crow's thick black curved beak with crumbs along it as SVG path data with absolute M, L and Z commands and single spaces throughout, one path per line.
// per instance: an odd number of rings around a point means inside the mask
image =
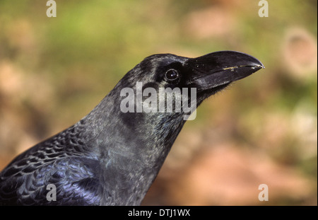
M 232 81 L 265 68 L 255 57 L 235 51 L 213 52 L 189 59 L 186 64 L 192 72 L 187 84 L 195 86 L 198 91 L 228 86 Z

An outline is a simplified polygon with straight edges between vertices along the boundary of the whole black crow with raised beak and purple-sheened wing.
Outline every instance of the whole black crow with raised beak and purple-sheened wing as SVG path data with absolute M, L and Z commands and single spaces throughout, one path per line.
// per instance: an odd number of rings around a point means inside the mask
M 1 171 L 0 204 L 140 205 L 192 110 L 261 68 L 258 59 L 234 51 L 146 57 L 83 119 Z M 172 91 L 161 101 L 160 88 Z M 163 100 L 173 107 L 158 110 Z

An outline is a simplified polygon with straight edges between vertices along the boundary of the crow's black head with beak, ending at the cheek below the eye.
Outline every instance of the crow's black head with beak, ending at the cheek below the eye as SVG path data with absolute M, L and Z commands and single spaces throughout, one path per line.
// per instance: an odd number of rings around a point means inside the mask
M 172 106 L 173 113 L 189 115 L 208 96 L 261 68 L 258 59 L 234 51 L 196 58 L 155 54 L 131 69 L 117 86 L 127 88 L 121 93 L 124 97 L 134 93 L 122 103 L 124 111 L 169 113 Z M 190 112 L 185 104 L 193 105 Z

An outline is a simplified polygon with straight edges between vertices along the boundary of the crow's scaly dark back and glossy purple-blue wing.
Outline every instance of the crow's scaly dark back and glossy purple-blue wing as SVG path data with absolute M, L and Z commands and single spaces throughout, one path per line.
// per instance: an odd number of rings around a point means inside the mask
M 100 161 L 70 127 L 17 156 L 0 173 L 0 204 L 98 204 Z M 57 201 L 47 201 L 47 186 Z

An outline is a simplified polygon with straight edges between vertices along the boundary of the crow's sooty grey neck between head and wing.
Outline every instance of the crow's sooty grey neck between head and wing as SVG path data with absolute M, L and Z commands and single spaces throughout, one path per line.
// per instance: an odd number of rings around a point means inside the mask
M 83 120 L 92 149 L 99 152 L 107 184 L 122 188 L 131 202 L 141 202 L 184 125 L 183 115 L 120 111 L 111 93 Z M 110 180 L 111 178 L 111 180 Z M 129 194 L 130 193 L 130 194 Z M 138 198 L 137 198 L 138 197 Z M 127 204 L 131 204 L 127 200 Z

